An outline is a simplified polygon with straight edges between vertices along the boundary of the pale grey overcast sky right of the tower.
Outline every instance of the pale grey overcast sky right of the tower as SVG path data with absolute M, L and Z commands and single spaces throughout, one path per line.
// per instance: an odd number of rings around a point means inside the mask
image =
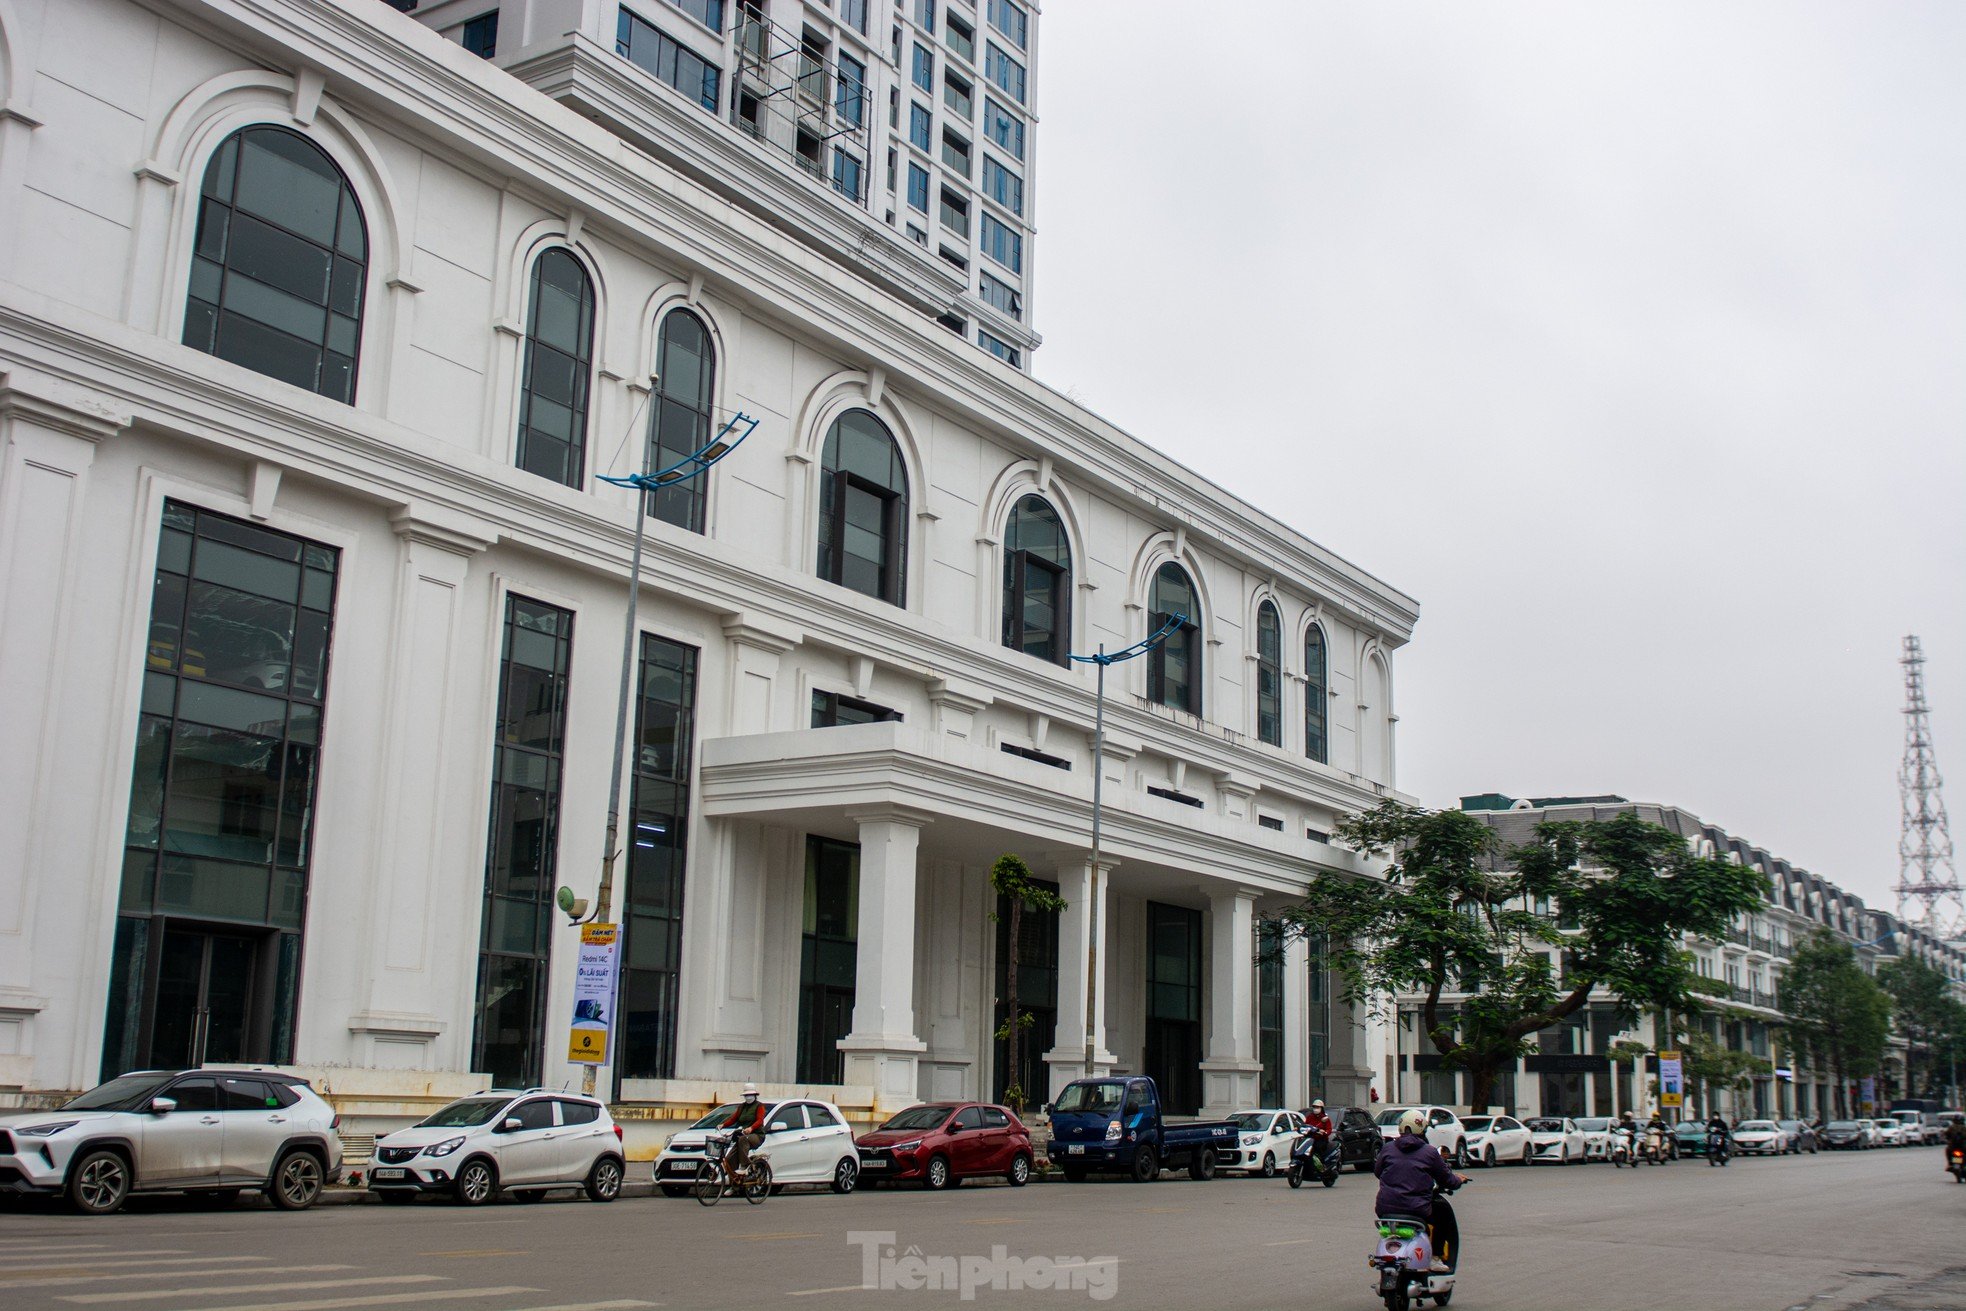
M 1402 788 L 1679 804 L 1893 904 L 1905 633 L 1966 816 L 1966 4 L 1042 41 L 1036 373 L 1419 598 Z

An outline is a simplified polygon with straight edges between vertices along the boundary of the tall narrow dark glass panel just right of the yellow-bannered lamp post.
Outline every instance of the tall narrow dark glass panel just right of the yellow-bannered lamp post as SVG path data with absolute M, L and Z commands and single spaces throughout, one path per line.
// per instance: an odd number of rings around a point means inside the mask
M 676 1073 L 694 745 L 696 649 L 643 633 L 621 926 L 627 945 L 617 1004 L 623 1024 L 615 1071 L 623 1079 Z

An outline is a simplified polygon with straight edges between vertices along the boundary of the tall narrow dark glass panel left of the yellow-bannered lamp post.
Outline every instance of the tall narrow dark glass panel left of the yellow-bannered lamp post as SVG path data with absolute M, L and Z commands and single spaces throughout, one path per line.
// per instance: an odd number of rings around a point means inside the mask
M 570 611 L 505 598 L 472 1030 L 472 1069 L 503 1087 L 533 1087 L 545 1075 L 547 959 L 558 886 L 560 757 L 572 649 Z

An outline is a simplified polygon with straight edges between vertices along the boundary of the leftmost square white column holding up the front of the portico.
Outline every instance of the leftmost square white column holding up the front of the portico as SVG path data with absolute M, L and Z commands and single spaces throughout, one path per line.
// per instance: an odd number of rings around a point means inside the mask
M 845 1081 L 871 1087 L 875 1112 L 920 1101 L 922 1052 L 914 1036 L 916 853 L 928 816 L 873 810 L 859 824 L 859 940 L 853 969 L 853 1030 L 839 1040 Z

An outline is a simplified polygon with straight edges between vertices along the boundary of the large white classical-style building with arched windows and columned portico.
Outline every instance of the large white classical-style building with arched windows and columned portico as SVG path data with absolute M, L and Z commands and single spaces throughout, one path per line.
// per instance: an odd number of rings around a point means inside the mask
M 1087 1030 L 1184 1109 L 1362 1097 L 1362 1030 L 1258 926 L 1366 873 L 1325 833 L 1396 794 L 1414 601 L 979 350 L 983 285 L 755 143 L 749 73 L 712 110 L 633 45 L 729 53 L 737 6 L 427 8 L 0 0 L 0 1093 L 578 1077 L 552 896 L 598 890 L 639 513 L 596 476 L 735 425 L 647 515 L 623 1114 L 1001 1095 L 1011 851 L 1068 902 L 1024 932 L 1034 1099 Z M 881 120 L 912 92 L 861 8 L 977 102 L 1036 39 L 1009 0 L 773 0 Z M 1066 655 L 1174 613 L 1109 676 L 1093 869 Z

